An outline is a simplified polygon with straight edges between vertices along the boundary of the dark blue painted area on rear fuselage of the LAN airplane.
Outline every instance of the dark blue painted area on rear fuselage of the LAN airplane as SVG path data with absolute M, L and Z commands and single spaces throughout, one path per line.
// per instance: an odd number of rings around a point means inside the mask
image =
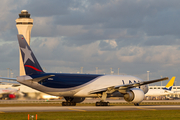
M 43 79 L 39 82 L 43 86 L 50 88 L 71 88 L 76 87 L 103 75 L 88 74 L 64 74 L 64 73 L 44 73 L 39 75 L 30 75 L 32 78 L 43 77 L 47 75 L 55 75 L 51 78 Z

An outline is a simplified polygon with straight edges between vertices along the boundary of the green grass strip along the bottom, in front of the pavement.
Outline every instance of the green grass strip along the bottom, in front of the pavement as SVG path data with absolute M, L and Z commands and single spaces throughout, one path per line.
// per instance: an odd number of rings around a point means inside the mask
M 136 111 L 93 111 L 93 112 L 0 113 L 0 120 L 27 120 L 28 114 L 34 116 L 37 114 L 38 115 L 37 120 L 179 120 L 180 119 L 180 110 L 136 110 Z

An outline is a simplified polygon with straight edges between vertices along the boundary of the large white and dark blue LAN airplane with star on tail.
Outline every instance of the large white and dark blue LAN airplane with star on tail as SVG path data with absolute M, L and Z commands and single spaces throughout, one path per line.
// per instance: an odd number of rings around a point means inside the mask
M 17 82 L 38 91 L 64 97 L 62 106 L 75 106 L 86 97 L 100 98 L 96 106 L 108 106 L 108 97 L 124 97 L 139 105 L 148 91 L 147 84 L 167 80 L 168 77 L 143 81 L 129 75 L 45 73 L 23 35 L 17 35 L 25 73 Z

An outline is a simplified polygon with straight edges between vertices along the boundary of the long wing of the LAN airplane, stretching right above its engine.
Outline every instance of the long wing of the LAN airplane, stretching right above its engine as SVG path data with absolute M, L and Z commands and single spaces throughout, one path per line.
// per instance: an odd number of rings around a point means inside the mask
M 139 87 L 141 85 L 146 85 L 146 84 L 150 84 L 150 83 L 154 83 L 154 82 L 160 82 L 160 81 L 164 81 L 167 79 L 169 79 L 169 78 L 164 77 L 164 78 L 155 79 L 155 80 L 141 81 L 141 82 L 137 82 L 137 83 L 124 84 L 124 85 L 119 85 L 119 86 L 111 86 L 108 88 L 93 90 L 90 92 L 90 94 L 96 94 L 96 93 L 102 93 L 102 92 L 112 93 L 112 92 L 117 91 L 117 90 L 121 90 L 123 92 L 123 90 L 127 90 L 129 88 Z

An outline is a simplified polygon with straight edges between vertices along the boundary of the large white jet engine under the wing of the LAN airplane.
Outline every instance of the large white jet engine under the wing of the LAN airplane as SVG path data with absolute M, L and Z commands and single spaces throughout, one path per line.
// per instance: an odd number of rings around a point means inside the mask
M 129 92 L 124 95 L 124 100 L 132 103 L 140 103 L 144 99 L 144 92 L 138 88 L 131 88 Z

